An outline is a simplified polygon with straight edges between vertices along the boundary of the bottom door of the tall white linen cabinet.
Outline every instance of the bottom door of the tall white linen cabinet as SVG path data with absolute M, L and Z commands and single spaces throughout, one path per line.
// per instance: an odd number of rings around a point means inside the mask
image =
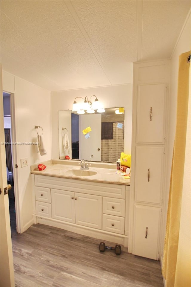
M 135 204 L 133 254 L 158 260 L 161 208 Z

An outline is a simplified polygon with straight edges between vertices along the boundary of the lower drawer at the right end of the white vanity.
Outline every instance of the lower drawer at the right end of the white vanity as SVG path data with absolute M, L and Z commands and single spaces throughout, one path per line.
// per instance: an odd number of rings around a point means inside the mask
M 102 229 L 110 232 L 124 234 L 125 219 L 124 217 L 103 214 Z

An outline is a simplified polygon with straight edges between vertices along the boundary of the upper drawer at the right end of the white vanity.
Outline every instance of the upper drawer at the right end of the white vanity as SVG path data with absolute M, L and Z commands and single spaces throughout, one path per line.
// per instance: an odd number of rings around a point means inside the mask
M 125 216 L 125 200 L 103 197 L 103 213 L 116 216 Z

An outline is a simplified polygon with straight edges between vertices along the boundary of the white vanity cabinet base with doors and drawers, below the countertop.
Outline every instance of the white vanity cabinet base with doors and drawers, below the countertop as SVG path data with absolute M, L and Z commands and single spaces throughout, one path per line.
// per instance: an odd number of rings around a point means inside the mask
M 34 179 L 36 223 L 128 247 L 130 186 L 36 174 Z

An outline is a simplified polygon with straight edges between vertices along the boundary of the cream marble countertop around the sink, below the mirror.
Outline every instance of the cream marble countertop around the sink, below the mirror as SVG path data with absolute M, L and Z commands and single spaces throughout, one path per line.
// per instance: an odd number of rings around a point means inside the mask
M 130 179 L 124 179 L 121 174 L 116 173 L 116 164 L 113 163 L 96 163 L 87 161 L 86 163 L 89 165 L 89 170 L 97 172 L 96 175 L 90 176 L 76 176 L 66 174 L 66 172 L 70 169 L 80 170 L 80 161 L 50 160 L 44 161 L 42 163 L 46 165 L 46 168 L 44 170 L 38 170 L 38 164 L 34 164 L 30 167 L 31 173 L 61 178 L 78 179 L 83 181 L 130 185 Z

